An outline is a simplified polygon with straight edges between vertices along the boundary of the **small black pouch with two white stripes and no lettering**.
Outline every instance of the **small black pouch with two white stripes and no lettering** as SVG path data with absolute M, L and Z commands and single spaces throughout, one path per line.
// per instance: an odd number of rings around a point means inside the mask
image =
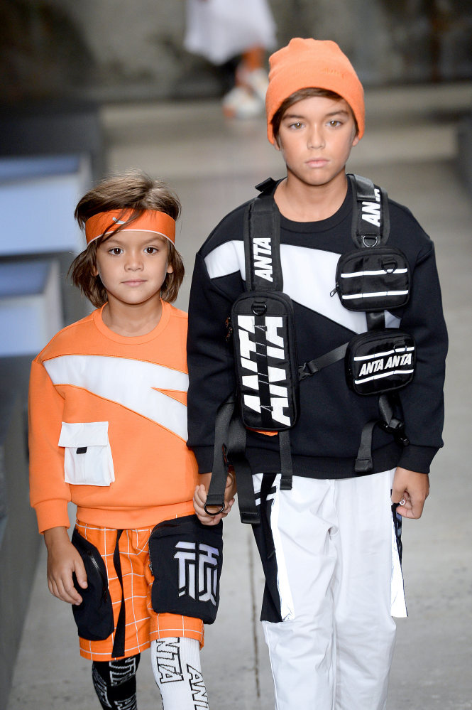
M 342 254 L 336 291 L 348 311 L 384 311 L 410 298 L 410 267 L 395 247 L 369 247 Z

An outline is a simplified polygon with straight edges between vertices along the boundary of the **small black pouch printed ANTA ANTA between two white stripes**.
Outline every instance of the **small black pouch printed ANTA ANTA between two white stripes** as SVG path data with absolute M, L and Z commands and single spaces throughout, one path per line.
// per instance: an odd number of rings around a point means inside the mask
M 396 328 L 368 330 L 348 344 L 346 380 L 356 394 L 392 392 L 411 382 L 415 362 L 412 335 Z

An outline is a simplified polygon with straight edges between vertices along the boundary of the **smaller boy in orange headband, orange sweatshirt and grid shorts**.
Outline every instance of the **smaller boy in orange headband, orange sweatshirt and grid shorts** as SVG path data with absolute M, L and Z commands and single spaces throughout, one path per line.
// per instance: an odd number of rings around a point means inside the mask
M 97 310 L 31 368 L 31 504 L 48 586 L 73 605 L 106 710 L 136 708 L 148 647 L 166 710 L 208 707 L 199 648 L 216 614 L 221 531 L 207 539 L 192 515 L 187 314 L 171 306 L 184 276 L 179 213 L 164 183 L 133 171 L 84 195 L 75 216 L 87 249 L 72 280 Z

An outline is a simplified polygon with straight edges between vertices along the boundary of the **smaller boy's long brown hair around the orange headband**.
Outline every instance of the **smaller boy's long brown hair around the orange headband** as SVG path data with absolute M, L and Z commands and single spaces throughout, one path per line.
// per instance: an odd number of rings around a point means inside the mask
M 146 173 L 132 170 L 106 178 L 89 190 L 77 204 L 74 216 L 79 227 L 84 230 L 85 222 L 89 217 L 99 212 L 124 209 L 133 210 L 133 215 L 126 223 L 118 225 L 105 237 L 90 242 L 87 249 L 81 252 L 70 265 L 72 283 L 96 308 L 103 306 L 107 301 L 106 290 L 100 277 L 93 275 L 97 267 L 97 249 L 100 244 L 123 227 L 131 225 L 144 210 L 158 210 L 177 220 L 180 215 L 180 200 L 162 181 L 153 180 Z M 163 301 L 173 303 L 179 293 L 185 269 L 182 257 L 175 246 L 169 240 L 165 241 L 168 244 L 168 264 L 172 266 L 173 271 L 166 274 L 160 297 Z

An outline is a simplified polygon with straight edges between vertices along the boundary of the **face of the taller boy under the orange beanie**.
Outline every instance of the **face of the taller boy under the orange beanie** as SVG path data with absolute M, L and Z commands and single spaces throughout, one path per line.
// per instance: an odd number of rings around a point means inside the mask
M 287 163 L 289 176 L 307 185 L 326 185 L 344 174 L 358 140 L 344 99 L 313 96 L 287 109 L 275 147 Z

